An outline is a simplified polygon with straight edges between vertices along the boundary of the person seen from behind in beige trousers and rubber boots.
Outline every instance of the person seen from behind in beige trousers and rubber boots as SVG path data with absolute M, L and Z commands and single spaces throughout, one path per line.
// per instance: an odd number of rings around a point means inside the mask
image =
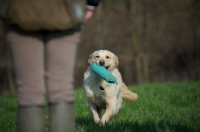
M 100 0 L 87 0 L 85 20 Z M 51 132 L 75 131 L 74 67 L 81 0 L 0 0 L 18 90 L 17 131 L 45 131 L 45 95 Z

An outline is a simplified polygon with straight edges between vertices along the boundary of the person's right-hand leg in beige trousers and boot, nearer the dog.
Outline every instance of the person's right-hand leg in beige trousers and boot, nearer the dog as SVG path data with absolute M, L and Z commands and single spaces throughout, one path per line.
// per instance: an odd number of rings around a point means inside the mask
M 74 67 L 80 33 L 47 36 L 47 88 L 50 131 L 75 131 Z

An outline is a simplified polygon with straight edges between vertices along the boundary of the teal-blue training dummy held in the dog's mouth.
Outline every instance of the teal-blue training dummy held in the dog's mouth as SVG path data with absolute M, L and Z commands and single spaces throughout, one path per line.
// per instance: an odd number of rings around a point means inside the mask
M 99 66 L 96 63 L 93 63 L 91 65 L 91 70 L 95 74 L 97 74 L 98 76 L 103 78 L 106 82 L 108 82 L 108 83 L 116 83 L 117 84 L 116 77 L 111 72 L 109 72 L 105 67 Z

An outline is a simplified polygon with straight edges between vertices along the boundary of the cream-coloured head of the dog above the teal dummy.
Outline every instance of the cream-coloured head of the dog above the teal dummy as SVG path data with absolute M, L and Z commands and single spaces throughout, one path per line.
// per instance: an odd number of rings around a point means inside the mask
M 91 65 L 97 63 L 100 66 L 105 67 L 107 70 L 112 71 L 118 67 L 118 57 L 108 50 L 98 50 L 93 52 L 88 59 L 88 64 Z

